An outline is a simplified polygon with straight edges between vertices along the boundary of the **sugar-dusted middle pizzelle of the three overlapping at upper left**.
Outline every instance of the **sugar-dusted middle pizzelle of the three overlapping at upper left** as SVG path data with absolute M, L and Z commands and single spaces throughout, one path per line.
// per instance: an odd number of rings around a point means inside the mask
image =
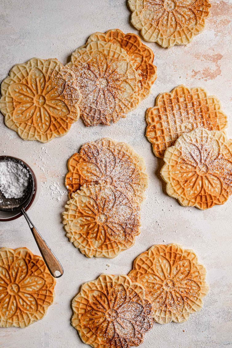
M 117 122 L 140 102 L 135 66 L 126 51 L 111 42 L 94 41 L 76 49 L 66 66 L 83 95 L 79 107 L 86 126 Z

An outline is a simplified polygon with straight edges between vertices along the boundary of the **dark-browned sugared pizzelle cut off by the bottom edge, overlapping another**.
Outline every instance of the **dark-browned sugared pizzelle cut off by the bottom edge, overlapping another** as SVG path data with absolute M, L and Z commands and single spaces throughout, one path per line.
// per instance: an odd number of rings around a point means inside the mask
M 138 346 L 153 325 L 142 285 L 125 275 L 101 275 L 85 283 L 72 301 L 72 325 L 94 348 Z

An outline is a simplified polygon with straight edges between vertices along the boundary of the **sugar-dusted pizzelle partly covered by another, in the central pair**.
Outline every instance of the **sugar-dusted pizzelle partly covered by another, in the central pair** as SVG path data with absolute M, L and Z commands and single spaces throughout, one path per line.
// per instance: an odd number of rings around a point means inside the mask
M 144 199 L 148 177 L 142 157 L 126 143 L 100 139 L 82 145 L 68 161 L 65 185 L 69 193 L 83 184 L 110 184 L 125 195 Z

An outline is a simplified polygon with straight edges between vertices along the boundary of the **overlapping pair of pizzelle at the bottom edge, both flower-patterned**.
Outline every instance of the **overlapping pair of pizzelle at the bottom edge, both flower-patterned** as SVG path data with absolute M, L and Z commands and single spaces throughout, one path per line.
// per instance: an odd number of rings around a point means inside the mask
M 205 277 L 192 250 L 154 245 L 127 276 L 102 274 L 83 284 L 72 301 L 72 325 L 91 347 L 137 347 L 154 322 L 183 323 L 202 308 Z

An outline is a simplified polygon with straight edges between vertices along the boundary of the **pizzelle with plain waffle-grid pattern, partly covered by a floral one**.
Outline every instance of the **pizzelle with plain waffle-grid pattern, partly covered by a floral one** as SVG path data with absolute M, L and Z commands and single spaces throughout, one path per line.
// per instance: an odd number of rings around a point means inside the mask
M 163 158 L 165 150 L 178 137 L 197 127 L 224 130 L 227 117 L 215 96 L 203 88 L 189 89 L 183 85 L 171 93 L 162 93 L 153 108 L 146 112 L 146 137 L 152 143 L 155 156 Z

